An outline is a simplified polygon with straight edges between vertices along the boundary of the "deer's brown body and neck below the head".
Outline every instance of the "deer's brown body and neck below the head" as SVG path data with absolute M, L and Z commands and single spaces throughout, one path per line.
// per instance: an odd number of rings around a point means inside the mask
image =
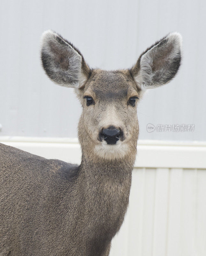
M 78 166 L 0 144 L 0 163 L 1 256 L 108 255 L 128 205 L 133 162 Z

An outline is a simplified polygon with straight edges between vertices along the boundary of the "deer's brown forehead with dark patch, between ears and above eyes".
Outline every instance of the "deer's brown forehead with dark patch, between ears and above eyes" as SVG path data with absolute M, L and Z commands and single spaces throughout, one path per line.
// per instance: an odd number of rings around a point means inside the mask
M 119 71 L 102 71 L 91 77 L 86 92 L 101 99 L 126 98 L 134 90 L 131 81 Z

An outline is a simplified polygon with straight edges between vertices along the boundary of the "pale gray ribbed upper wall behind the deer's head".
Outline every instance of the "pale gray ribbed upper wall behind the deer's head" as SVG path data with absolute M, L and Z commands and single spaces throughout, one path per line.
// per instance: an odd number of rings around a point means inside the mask
M 0 136 L 76 137 L 81 108 L 72 89 L 44 74 L 39 39 L 49 28 L 77 46 L 90 67 L 128 68 L 170 31 L 183 36 L 178 76 L 138 106 L 140 139 L 206 140 L 204 0 L 1 1 Z M 148 123 L 195 124 L 194 132 L 151 132 Z

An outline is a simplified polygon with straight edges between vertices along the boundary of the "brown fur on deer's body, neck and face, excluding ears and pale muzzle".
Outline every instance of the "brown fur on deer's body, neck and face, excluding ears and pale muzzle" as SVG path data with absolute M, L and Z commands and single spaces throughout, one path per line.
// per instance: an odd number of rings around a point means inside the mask
M 1 256 L 10 251 L 21 256 L 109 255 L 129 200 L 138 122 L 136 108 L 127 106 L 127 98 L 138 92 L 127 73 L 94 70 L 92 77 L 80 92 L 90 90 L 96 101 L 93 108 L 82 100 L 80 166 L 0 145 Z M 125 99 L 118 95 L 120 88 L 128 93 Z M 94 89 L 99 90 L 95 95 Z M 117 116 L 124 121 L 125 133 L 131 134 L 123 158 L 107 160 L 94 153 L 95 144 L 101 143 L 96 141 L 98 123 L 111 104 L 103 93 L 117 93 Z

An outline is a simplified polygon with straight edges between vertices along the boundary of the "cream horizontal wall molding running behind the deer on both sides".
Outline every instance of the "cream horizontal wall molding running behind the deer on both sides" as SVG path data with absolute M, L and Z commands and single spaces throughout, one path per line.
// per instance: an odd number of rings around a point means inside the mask
M 46 158 L 80 163 L 77 138 L 0 137 L 0 142 Z M 206 169 L 206 142 L 139 140 L 134 168 Z

